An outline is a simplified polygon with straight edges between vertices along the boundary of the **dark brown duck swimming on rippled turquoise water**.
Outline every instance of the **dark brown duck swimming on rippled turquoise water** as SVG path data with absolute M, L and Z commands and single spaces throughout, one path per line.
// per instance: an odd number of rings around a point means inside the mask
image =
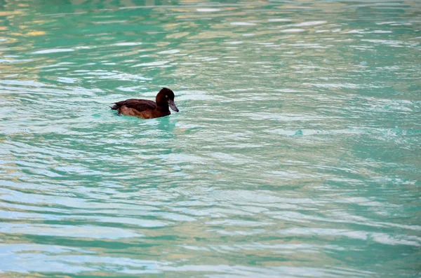
M 171 110 L 178 112 L 174 103 L 174 92 L 168 88 L 162 88 L 155 97 L 155 102 L 148 99 L 126 99 L 114 102 L 110 106 L 117 111 L 117 115 L 135 116 L 138 118 L 152 119 L 168 116 Z

